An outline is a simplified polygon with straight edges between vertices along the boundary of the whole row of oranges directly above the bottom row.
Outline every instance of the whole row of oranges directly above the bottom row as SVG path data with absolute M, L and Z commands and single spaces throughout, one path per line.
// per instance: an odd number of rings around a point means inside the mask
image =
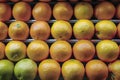
M 69 42 L 59 40 L 49 46 L 42 40 L 33 40 L 28 46 L 21 41 L 10 41 L 6 46 L 1 42 L 0 59 L 6 56 L 9 60 L 16 62 L 25 58 L 27 53 L 27 57 L 39 62 L 47 59 L 50 53 L 52 59 L 65 62 L 71 58 L 73 52 L 74 58 L 82 62 L 95 58 L 95 53 L 97 53 L 98 59 L 113 62 L 120 55 L 120 46 L 112 40 L 102 40 L 96 44 L 96 47 L 90 40 L 79 40 L 73 47 Z

